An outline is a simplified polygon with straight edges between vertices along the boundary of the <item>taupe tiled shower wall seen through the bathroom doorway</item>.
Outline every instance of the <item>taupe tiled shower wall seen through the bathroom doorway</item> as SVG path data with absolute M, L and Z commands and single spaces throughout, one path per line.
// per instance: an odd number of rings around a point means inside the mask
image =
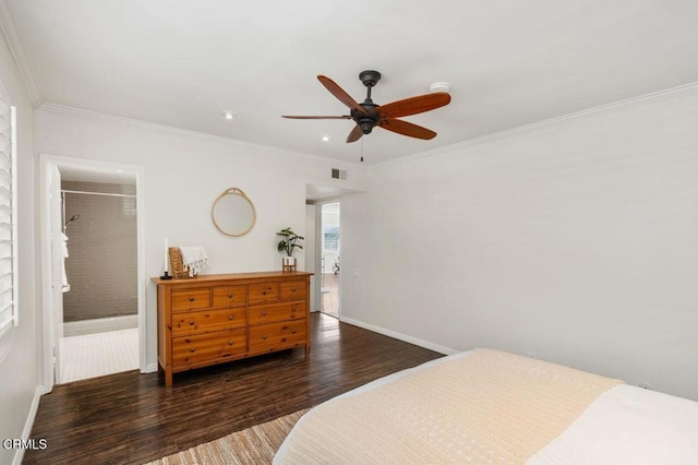
M 63 181 L 63 190 L 135 194 L 135 186 Z M 63 321 L 137 313 L 135 196 L 63 194 L 69 258 Z

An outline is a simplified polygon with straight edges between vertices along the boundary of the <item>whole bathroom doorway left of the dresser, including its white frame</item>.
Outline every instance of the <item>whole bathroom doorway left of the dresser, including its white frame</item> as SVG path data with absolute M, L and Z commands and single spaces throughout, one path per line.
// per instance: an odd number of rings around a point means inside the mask
M 41 156 L 46 391 L 146 369 L 143 169 Z

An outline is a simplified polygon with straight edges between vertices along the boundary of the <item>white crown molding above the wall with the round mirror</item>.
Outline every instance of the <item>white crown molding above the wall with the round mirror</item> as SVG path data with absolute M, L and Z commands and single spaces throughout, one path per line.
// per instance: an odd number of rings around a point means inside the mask
M 0 1 L 2 1 L 2 0 L 0 0 Z M 243 147 L 243 148 L 262 150 L 262 151 L 270 152 L 270 153 L 274 153 L 274 154 L 277 154 L 277 155 L 280 155 L 280 156 L 292 155 L 294 157 L 304 158 L 304 159 L 312 160 L 312 162 L 320 162 L 320 163 L 323 163 L 323 164 L 330 164 L 335 168 L 352 169 L 352 170 L 360 169 L 360 170 L 364 170 L 364 171 L 368 170 L 368 168 L 365 166 L 362 166 L 360 164 L 351 164 L 351 163 L 347 163 L 347 162 L 338 162 L 338 160 L 336 160 L 334 158 L 329 158 L 329 157 L 323 157 L 323 156 L 318 156 L 318 155 L 305 154 L 305 153 L 302 153 L 302 152 L 296 152 L 296 151 L 290 151 L 290 150 L 287 150 L 287 148 L 275 147 L 275 146 L 272 146 L 272 145 L 257 144 L 257 143 L 254 143 L 254 142 L 241 141 L 239 139 L 225 138 L 222 135 L 215 135 L 215 134 L 208 134 L 208 133 L 205 133 L 205 132 L 191 131 L 189 129 L 181 129 L 181 128 L 176 128 L 176 127 L 172 127 L 172 126 L 157 124 L 157 123 L 154 123 L 154 122 L 147 122 L 147 121 L 142 121 L 142 120 L 132 119 L 132 118 L 119 117 L 119 116 L 103 114 L 103 112 L 99 112 L 99 111 L 84 110 L 82 108 L 75 108 L 75 107 L 70 107 L 70 106 L 60 105 L 60 104 L 52 104 L 50 102 L 45 102 L 44 104 L 41 104 L 41 106 L 38 108 L 38 111 L 68 115 L 68 116 L 84 118 L 84 119 L 88 119 L 88 120 L 93 120 L 93 121 L 109 121 L 109 122 L 116 122 L 116 123 L 121 123 L 121 124 L 136 126 L 136 127 L 141 127 L 141 128 L 149 129 L 149 130 L 153 130 L 153 131 L 168 132 L 168 133 L 171 133 L 171 134 L 178 134 L 178 135 L 183 135 L 183 136 L 193 138 L 193 139 L 200 139 L 200 140 L 208 140 L 208 141 L 214 141 L 214 142 L 218 142 L 218 143 L 234 145 L 234 146 Z

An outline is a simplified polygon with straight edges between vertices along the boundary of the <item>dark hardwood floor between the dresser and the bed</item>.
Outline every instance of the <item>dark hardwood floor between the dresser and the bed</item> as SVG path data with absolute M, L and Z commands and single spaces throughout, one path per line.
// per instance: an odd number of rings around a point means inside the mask
M 302 348 L 174 374 L 127 371 L 41 397 L 25 464 L 142 464 L 221 438 L 441 357 L 321 313 Z

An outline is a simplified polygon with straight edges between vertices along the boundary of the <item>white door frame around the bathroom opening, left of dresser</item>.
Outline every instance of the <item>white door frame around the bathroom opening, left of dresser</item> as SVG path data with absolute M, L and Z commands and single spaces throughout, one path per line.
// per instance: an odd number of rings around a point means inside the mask
M 146 344 L 146 285 L 145 277 L 145 169 L 139 165 L 124 165 L 100 162 L 87 158 L 74 158 L 50 154 L 39 154 L 39 240 L 41 260 L 41 296 L 43 296 L 43 378 L 44 392 L 51 392 L 56 383 L 55 360 L 57 351 L 57 309 L 62 309 L 62 293 L 60 289 L 60 270 L 62 260 L 52 241 L 60 237 L 62 228 L 56 220 L 55 208 L 60 196 L 51 198 L 51 182 L 56 171 L 60 168 L 77 168 L 97 172 L 123 172 L 134 175 L 136 191 L 136 266 L 137 266 L 137 318 L 139 318 L 139 368 L 142 373 L 153 371 L 147 367 Z M 59 190 L 60 192 L 60 187 Z M 58 229 L 58 230 L 57 230 Z M 58 242 L 55 242 L 58 243 Z M 56 282 L 56 276 L 59 281 Z M 55 285 L 57 283 L 57 285 Z

